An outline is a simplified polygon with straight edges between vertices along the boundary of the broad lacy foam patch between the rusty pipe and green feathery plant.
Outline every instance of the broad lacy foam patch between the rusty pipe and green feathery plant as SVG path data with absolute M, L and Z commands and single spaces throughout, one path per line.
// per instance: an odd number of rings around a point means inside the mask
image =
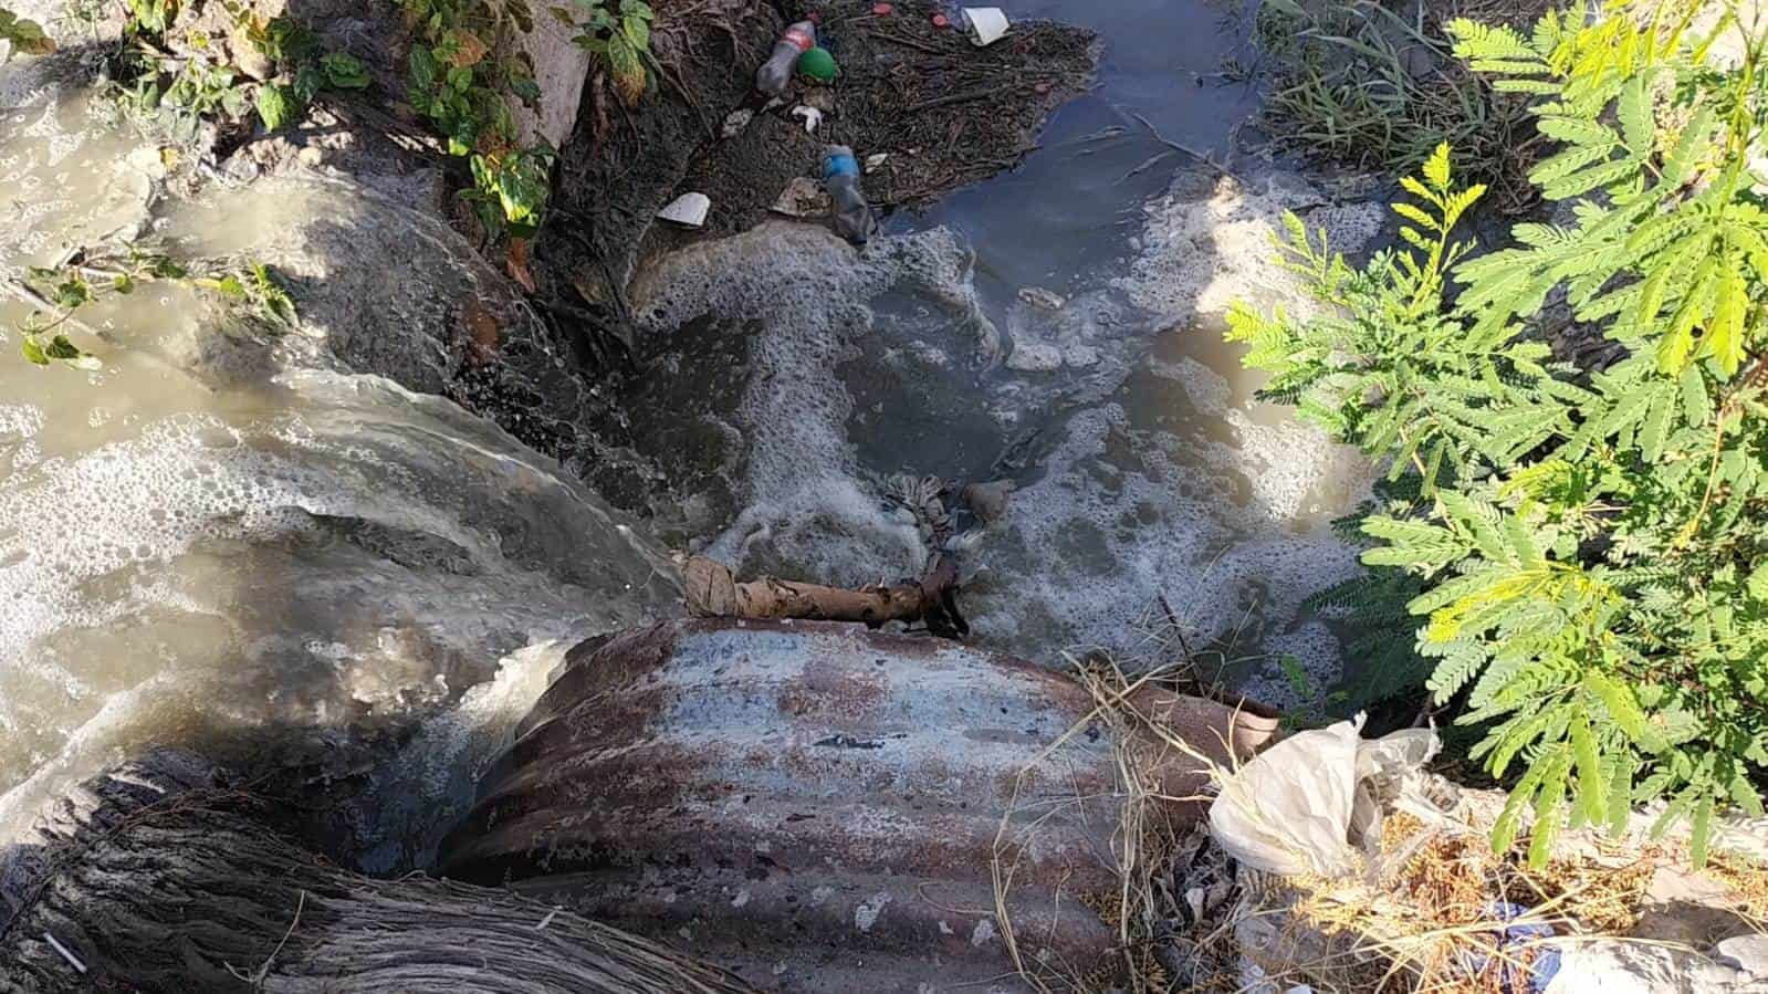
M 967 601 L 978 633 L 1022 653 L 1133 660 L 1155 649 L 1147 619 L 1165 598 L 1193 647 L 1234 640 L 1245 624 L 1257 626 L 1257 644 L 1261 631 L 1287 628 L 1310 593 L 1351 575 L 1354 550 L 1292 532 L 1282 506 L 1241 493 L 1236 462 L 1200 455 L 1133 428 L 1114 403 L 1070 419 L 1047 476 L 1013 495 L 979 547 L 987 575 Z M 1301 653 L 1310 669 L 1335 665 L 1335 646 Z

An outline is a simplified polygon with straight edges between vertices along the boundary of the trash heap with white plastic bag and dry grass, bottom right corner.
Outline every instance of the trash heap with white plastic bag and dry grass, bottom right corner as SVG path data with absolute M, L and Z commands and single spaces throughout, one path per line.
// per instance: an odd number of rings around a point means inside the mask
M 1768 870 L 1683 847 L 1561 837 L 1490 849 L 1503 794 L 1425 771 L 1434 730 L 1298 732 L 1218 769 L 1208 828 L 1163 856 L 1160 982 L 1246 994 L 1768 992 Z M 1768 845 L 1768 840 L 1761 840 Z M 1158 987 L 1156 987 L 1158 989 Z

